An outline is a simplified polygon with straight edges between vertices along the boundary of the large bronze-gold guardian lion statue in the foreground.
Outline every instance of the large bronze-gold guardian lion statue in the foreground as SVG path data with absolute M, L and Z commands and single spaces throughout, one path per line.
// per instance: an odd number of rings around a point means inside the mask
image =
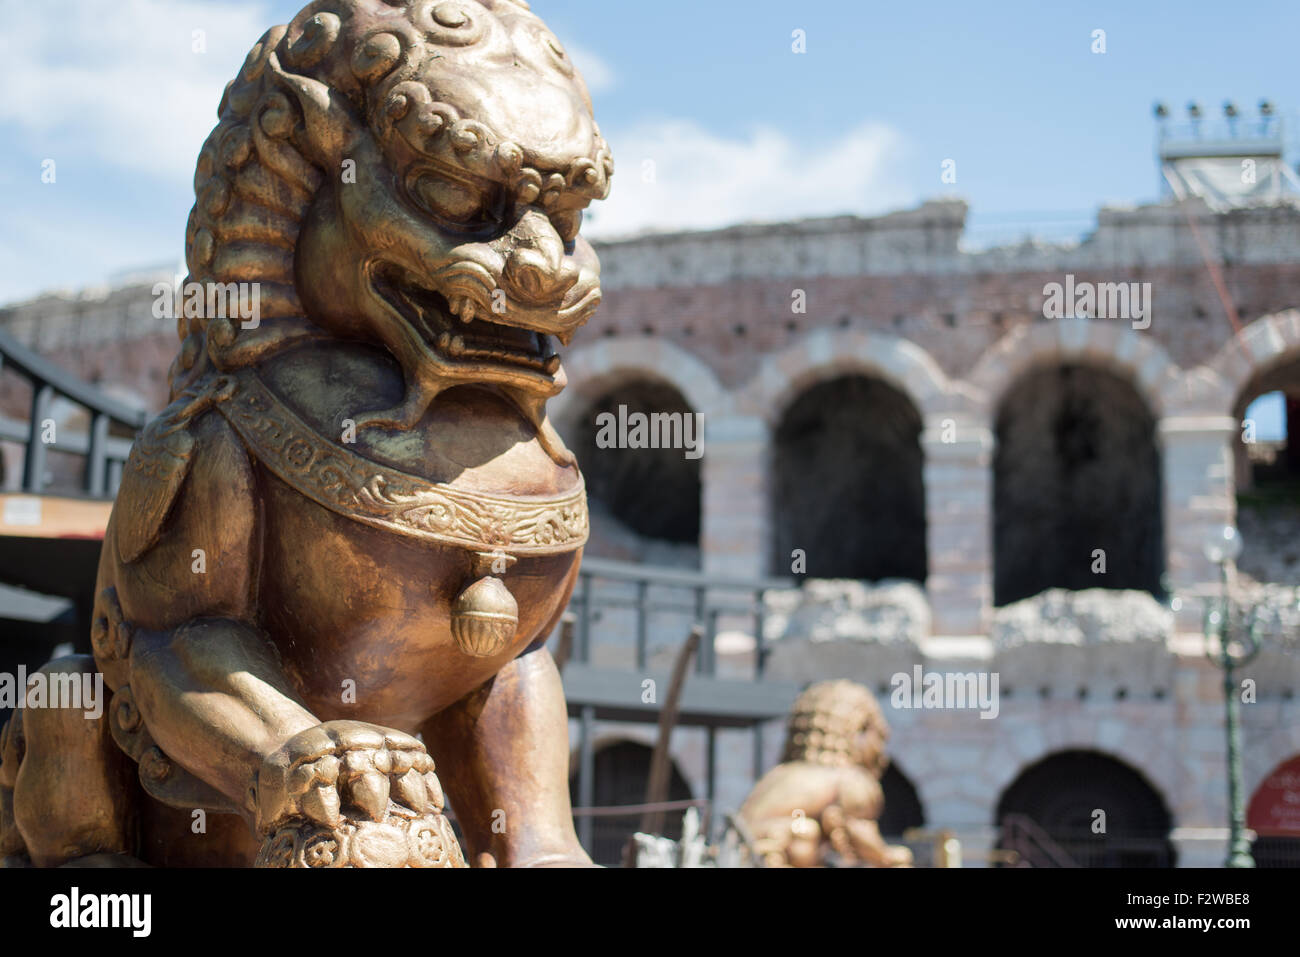
M 543 644 L 586 541 L 546 419 L 554 343 L 601 299 L 578 226 L 614 165 L 586 87 L 524 3 L 324 0 L 218 116 L 188 281 L 259 283 L 260 313 L 178 321 L 94 662 L 53 666 L 98 668 L 110 706 L 18 713 L 0 853 L 589 863 Z

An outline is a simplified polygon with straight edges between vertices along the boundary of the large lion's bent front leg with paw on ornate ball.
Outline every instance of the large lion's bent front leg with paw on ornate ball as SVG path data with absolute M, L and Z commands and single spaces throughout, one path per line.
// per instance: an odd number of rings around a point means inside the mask
M 208 619 L 131 629 L 129 644 L 139 720 L 127 723 L 148 737 L 118 744 L 166 804 L 182 806 L 187 776 L 224 796 L 263 841 L 257 866 L 464 866 L 424 745 L 364 722 L 320 722 L 256 629 Z

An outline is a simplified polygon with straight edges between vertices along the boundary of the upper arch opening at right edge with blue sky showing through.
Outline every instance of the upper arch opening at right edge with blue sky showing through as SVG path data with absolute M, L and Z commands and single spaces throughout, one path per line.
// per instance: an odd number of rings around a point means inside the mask
M 1257 373 L 1234 407 L 1238 568 L 1300 585 L 1300 356 Z

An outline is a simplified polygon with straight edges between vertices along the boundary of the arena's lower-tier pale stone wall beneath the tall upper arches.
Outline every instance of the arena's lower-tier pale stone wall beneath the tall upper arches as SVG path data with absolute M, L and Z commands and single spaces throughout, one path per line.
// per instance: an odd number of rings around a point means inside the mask
M 1295 594 L 1291 596 L 1291 602 Z M 927 640 L 927 607 L 910 584 L 809 581 L 781 596 L 772 616 L 768 675 L 794 681 L 844 677 L 872 688 L 892 728 L 889 753 L 916 791 L 924 826 L 948 828 L 966 866 L 984 866 L 997 809 L 1040 762 L 1086 752 L 1135 772 L 1169 811 L 1179 866 L 1221 866 L 1226 857 L 1223 679 L 1174 615 L 1140 592 L 1056 590 L 1002 609 L 989 642 Z M 1239 675 L 1254 683 L 1242 706 L 1247 798 L 1300 753 L 1297 620 Z M 775 637 L 779 633 L 781 637 Z M 1290 650 L 1282 649 L 1291 636 Z M 911 707 L 896 700 L 898 675 L 998 679 L 996 714 L 978 707 Z M 780 758 L 780 722 L 760 729 L 760 767 Z M 654 742 L 654 728 L 597 723 L 595 746 Z M 578 726 L 571 722 L 571 744 Z M 751 732 L 720 731 L 715 809 L 734 810 L 754 780 Z M 707 793 L 707 737 L 680 728 L 672 755 L 694 797 Z M 1119 809 L 1102 806 L 1117 815 Z M 1123 828 L 1119 819 L 1114 827 Z

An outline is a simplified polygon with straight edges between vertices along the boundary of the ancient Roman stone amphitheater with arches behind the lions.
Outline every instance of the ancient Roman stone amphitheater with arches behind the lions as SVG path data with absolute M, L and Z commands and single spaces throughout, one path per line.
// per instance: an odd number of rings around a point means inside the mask
M 599 244 L 606 302 L 552 403 L 588 475 L 589 554 L 789 580 L 768 599 L 767 674 L 852 677 L 889 702 L 894 831 L 952 830 L 978 865 L 994 824 L 1056 788 L 1061 827 L 1109 807 L 1131 861 L 1219 863 L 1223 687 L 1202 607 L 1225 525 L 1243 529 L 1228 571 L 1266 633 L 1242 675 L 1247 796 L 1300 755 L 1300 521 L 1274 494 L 1294 490 L 1300 441 L 1268 475 L 1243 441 L 1257 397 L 1297 408 L 1300 208 L 1104 208 L 1080 243 L 984 251 L 966 250 L 966 215 L 944 200 Z M 156 410 L 174 348 L 160 278 L 10 306 L 0 328 Z M 1045 317 L 1067 281 L 1149 283 L 1149 313 Z M 620 406 L 701 413 L 705 454 L 598 447 L 595 416 Z M 0 411 L 22 408 L 6 384 Z M 658 627 L 653 651 L 681 627 Z M 724 661 L 751 654 L 744 631 L 719 638 Z M 996 718 L 890 701 L 916 668 L 996 675 Z M 654 740 L 599 731 L 611 749 Z M 719 805 L 744 797 L 749 752 L 720 732 Z M 681 729 L 673 759 L 701 794 L 703 733 Z

